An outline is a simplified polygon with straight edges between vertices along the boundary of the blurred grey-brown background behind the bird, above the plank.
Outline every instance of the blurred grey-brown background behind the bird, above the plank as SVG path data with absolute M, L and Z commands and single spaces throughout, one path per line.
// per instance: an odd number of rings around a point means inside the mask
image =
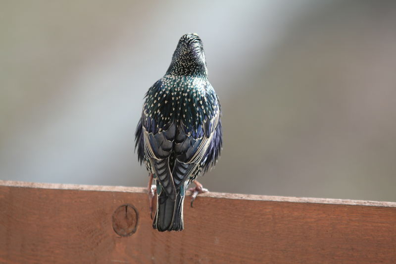
M 396 201 L 396 2 L 1 1 L 0 178 L 146 186 L 143 96 L 202 38 L 211 191 Z

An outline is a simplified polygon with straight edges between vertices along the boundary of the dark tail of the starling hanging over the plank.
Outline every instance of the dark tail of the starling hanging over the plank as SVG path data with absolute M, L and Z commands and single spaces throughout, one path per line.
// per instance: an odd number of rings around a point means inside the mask
M 157 196 L 157 210 L 152 223 L 154 229 L 158 231 L 183 230 L 183 202 L 186 188 L 187 184 L 183 184 L 178 188 L 175 201 L 172 201 L 164 190 L 160 191 Z

